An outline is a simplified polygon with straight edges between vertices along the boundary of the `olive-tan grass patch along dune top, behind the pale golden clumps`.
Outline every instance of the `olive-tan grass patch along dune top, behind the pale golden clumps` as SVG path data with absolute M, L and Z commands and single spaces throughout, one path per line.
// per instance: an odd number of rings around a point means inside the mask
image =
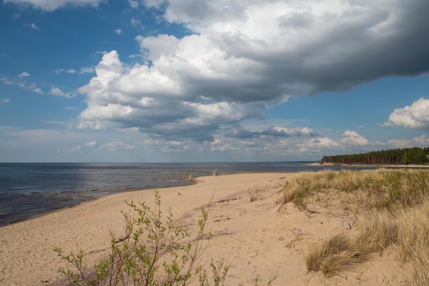
M 336 190 L 345 194 L 365 194 L 367 209 L 413 207 L 429 194 L 428 170 L 342 170 L 303 172 L 286 181 L 283 202 L 306 204 L 314 194 Z

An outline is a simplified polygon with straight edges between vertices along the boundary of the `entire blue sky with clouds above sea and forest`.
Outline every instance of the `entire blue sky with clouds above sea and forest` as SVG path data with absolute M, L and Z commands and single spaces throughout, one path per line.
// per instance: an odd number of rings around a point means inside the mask
M 429 146 L 427 0 L 0 1 L 0 162 Z

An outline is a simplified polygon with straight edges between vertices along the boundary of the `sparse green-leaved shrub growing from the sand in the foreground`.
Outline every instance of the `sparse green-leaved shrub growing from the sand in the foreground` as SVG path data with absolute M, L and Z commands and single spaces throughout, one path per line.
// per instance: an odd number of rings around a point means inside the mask
M 79 250 L 64 254 L 61 248 L 54 251 L 74 270 L 59 268 L 73 285 L 223 285 L 228 265 L 210 263 L 210 272 L 203 269 L 199 258 L 208 246 L 211 233 L 206 230 L 208 209 L 201 209 L 196 236 L 178 229 L 173 213 L 164 214 L 158 191 L 154 192 L 155 207 L 146 203 L 127 203 L 129 212 L 123 211 L 124 233 L 117 237 L 110 233 L 110 250 L 107 257 L 90 268 L 86 265 L 86 252 Z

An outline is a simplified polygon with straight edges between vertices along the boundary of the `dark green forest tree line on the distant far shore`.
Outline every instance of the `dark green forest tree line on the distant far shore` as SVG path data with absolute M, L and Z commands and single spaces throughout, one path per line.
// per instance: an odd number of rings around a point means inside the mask
M 352 155 L 330 155 L 323 156 L 322 163 L 334 164 L 369 164 L 369 165 L 391 165 L 391 164 L 429 164 L 429 148 L 398 148 L 382 151 L 371 151 L 367 153 Z

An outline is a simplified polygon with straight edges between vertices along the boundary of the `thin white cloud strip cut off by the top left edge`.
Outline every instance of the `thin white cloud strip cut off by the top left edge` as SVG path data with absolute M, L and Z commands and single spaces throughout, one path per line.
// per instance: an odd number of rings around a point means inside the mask
M 68 7 L 97 7 L 103 0 L 4 0 L 5 3 L 31 5 L 45 11 Z

